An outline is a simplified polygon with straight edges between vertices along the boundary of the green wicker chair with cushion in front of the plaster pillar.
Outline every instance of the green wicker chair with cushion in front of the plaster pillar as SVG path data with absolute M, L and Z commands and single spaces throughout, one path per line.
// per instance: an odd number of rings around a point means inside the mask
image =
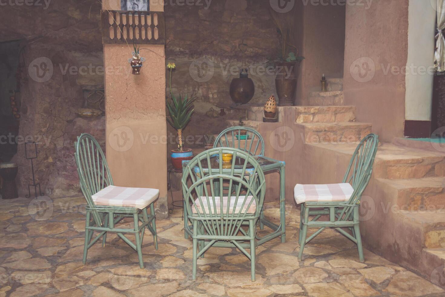
M 97 240 L 102 238 L 102 247 L 104 247 L 107 232 L 116 232 L 122 240 L 138 252 L 139 265 L 144 268 L 142 240 L 145 228 L 153 234 L 154 246 L 158 249 L 154 200 L 158 198 L 159 190 L 115 187 L 104 152 L 90 134 L 85 133 L 77 137 L 74 148 L 81 190 L 87 201 L 83 264 L 86 263 L 88 249 Z M 150 215 L 147 212 L 149 206 Z M 134 228 L 116 228 L 115 226 L 126 217 L 133 218 Z M 94 231 L 99 234 L 92 240 Z M 136 244 L 125 237 L 124 233 L 133 233 Z

